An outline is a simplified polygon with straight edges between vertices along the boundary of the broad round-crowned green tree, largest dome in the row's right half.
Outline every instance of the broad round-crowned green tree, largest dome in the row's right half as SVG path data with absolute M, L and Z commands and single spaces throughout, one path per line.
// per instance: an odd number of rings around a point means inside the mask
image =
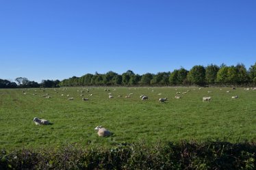
M 188 72 L 188 81 L 195 85 L 205 85 L 205 68 L 203 66 L 194 66 Z

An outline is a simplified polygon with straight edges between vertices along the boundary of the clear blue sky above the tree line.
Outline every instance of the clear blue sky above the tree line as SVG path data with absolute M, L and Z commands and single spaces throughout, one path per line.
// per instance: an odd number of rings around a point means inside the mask
M 255 61 L 255 0 L 0 0 L 0 79 Z

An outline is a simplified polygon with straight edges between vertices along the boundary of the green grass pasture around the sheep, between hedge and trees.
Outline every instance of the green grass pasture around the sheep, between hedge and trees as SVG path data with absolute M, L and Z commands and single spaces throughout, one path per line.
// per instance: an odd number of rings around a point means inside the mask
M 81 93 L 83 89 L 89 92 Z M 176 94 L 178 91 L 187 94 Z M 114 98 L 108 98 L 110 92 Z M 45 94 L 51 98 L 42 97 Z M 82 101 L 80 94 L 89 100 Z M 133 95 L 125 98 L 128 94 Z M 141 94 L 149 96 L 149 100 L 142 101 Z M 232 99 L 235 95 L 239 98 Z M 212 96 L 212 100 L 203 102 L 203 96 Z M 70 97 L 74 100 L 68 100 Z M 165 97 L 167 102 L 158 102 Z M 53 124 L 36 126 L 34 117 Z M 114 135 L 98 137 L 94 128 L 99 125 Z M 51 148 L 66 143 L 107 147 L 140 141 L 151 145 L 183 139 L 256 141 L 256 91 L 229 87 L 0 89 L 0 148 Z

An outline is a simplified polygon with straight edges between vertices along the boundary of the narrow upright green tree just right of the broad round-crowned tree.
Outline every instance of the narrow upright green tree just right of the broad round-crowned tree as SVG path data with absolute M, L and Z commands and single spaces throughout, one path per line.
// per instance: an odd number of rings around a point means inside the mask
M 209 65 L 205 68 L 205 81 L 208 84 L 214 84 L 217 82 L 217 74 L 220 68 L 216 65 Z

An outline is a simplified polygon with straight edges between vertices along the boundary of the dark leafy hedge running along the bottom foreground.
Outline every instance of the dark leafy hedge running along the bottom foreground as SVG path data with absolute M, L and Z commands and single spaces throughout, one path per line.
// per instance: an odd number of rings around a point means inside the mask
M 255 143 L 66 145 L 55 150 L 1 150 L 0 169 L 256 169 Z

